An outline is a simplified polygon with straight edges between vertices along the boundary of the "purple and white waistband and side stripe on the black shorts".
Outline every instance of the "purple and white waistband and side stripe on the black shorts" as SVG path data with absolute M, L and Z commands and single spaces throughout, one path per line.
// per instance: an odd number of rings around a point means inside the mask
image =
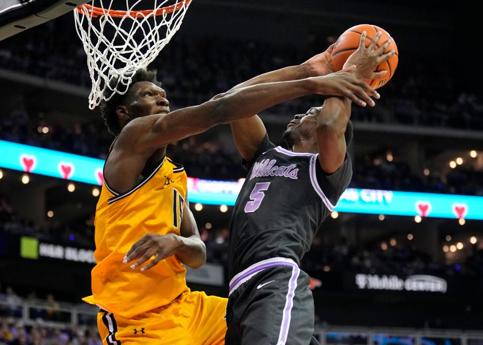
M 274 267 L 274 266 L 291 266 L 292 275 L 289 280 L 289 289 L 287 291 L 287 296 L 285 300 L 284 314 L 282 317 L 282 324 L 280 325 L 279 340 L 277 345 L 285 345 L 287 341 L 287 336 L 289 334 L 290 320 L 292 318 L 292 307 L 294 306 L 294 296 L 295 289 L 297 288 L 297 279 L 299 278 L 300 268 L 297 266 L 294 260 L 287 259 L 285 257 L 274 257 L 271 259 L 266 259 L 259 261 L 247 269 L 241 271 L 230 281 L 230 296 L 236 289 L 240 287 L 243 283 L 247 282 L 258 272 L 262 270 Z

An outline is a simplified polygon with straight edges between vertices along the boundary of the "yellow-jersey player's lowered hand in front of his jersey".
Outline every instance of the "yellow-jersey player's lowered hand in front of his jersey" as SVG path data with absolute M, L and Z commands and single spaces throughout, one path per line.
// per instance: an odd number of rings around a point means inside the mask
M 154 256 L 154 259 L 146 266 L 141 267 L 141 271 L 145 271 L 168 256 L 174 255 L 179 248 L 179 244 L 180 241 L 175 234 L 146 234 L 132 245 L 122 262 L 129 263 L 139 258 L 139 260 L 130 265 L 131 269 L 135 269 Z

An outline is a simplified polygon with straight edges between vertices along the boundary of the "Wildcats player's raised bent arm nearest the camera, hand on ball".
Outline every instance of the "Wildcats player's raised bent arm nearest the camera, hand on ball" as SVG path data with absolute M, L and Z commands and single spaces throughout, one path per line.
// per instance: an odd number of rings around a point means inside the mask
M 362 80 L 382 77 L 386 71 L 374 72 L 376 66 L 392 56 L 394 51 L 384 53 L 390 39 L 380 48 L 375 49 L 381 33 L 379 32 L 368 47 L 365 47 L 366 32 L 361 35 L 359 48 L 346 61 L 347 65 L 357 65 L 354 76 Z M 346 157 L 347 123 L 351 116 L 351 103 L 354 98 L 331 97 L 325 100 L 321 108 L 313 108 L 317 115 L 317 142 L 319 146 L 319 162 L 325 173 L 335 172 Z

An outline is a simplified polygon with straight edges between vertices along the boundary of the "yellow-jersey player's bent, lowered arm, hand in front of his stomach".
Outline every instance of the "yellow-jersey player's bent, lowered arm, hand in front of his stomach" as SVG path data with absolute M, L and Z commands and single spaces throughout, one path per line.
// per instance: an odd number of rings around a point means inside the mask
M 153 256 L 154 258 L 141 271 L 150 269 L 163 259 L 176 255 L 179 261 L 191 268 L 199 268 L 206 262 L 206 247 L 199 238 L 198 227 L 193 214 L 189 210 L 188 201 L 184 204 L 183 220 L 181 221 L 180 235 L 176 234 L 146 234 L 134 243 L 124 257 L 123 263 L 136 269 L 142 266 Z

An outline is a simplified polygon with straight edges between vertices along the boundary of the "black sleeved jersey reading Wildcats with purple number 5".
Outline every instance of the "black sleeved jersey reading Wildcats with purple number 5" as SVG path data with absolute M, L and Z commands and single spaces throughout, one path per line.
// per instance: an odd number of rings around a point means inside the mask
M 333 174 L 322 170 L 318 154 L 275 147 L 266 135 L 235 203 L 230 225 L 228 275 L 271 257 L 300 264 L 322 222 L 349 185 L 348 154 Z

